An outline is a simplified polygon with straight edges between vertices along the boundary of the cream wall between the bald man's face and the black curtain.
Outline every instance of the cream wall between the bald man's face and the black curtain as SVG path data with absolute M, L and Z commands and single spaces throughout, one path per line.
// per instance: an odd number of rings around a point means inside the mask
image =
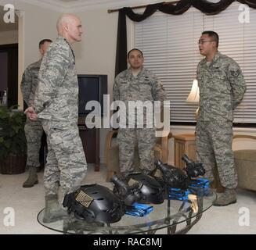
M 106 74 L 108 93 L 112 99 L 114 67 L 117 44 L 117 13 L 109 14 L 106 9 L 76 13 L 81 18 L 83 37 L 74 44 L 78 73 Z M 105 138 L 109 129 L 100 130 L 99 154 L 104 162 Z

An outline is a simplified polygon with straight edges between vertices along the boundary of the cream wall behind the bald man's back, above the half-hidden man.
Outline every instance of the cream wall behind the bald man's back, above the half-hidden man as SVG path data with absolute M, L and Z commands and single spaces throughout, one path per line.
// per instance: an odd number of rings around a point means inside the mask
M 23 70 L 32 62 L 40 58 L 38 42 L 43 38 L 56 39 L 56 20 L 59 13 L 49 9 L 39 8 L 18 0 L 1 0 L 0 5 L 13 4 L 20 10 L 19 22 L 19 93 L 18 103 L 23 109 L 23 98 L 20 91 L 20 81 Z M 2 16 L 0 16 L 2 18 Z M 20 25 L 21 24 L 21 25 Z

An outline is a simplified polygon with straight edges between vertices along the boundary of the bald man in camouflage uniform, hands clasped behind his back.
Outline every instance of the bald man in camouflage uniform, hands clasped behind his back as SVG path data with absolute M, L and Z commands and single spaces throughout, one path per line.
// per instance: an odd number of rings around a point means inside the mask
M 57 30 L 59 36 L 41 62 L 34 107 L 25 111 L 31 120 L 41 119 L 47 136 L 45 223 L 67 215 L 59 205 L 58 184 L 67 195 L 81 184 L 87 170 L 78 131 L 78 76 L 70 47 L 81 41 L 81 20 L 64 14 L 59 17 Z

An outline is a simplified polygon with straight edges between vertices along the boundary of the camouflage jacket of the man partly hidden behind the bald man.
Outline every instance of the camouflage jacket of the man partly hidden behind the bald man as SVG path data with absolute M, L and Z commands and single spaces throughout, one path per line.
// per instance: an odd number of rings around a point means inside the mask
M 41 66 L 41 59 L 38 62 L 34 62 L 27 66 L 24 71 L 20 89 L 23 95 L 24 101 L 28 106 L 34 105 L 34 92 L 38 87 L 38 72 Z

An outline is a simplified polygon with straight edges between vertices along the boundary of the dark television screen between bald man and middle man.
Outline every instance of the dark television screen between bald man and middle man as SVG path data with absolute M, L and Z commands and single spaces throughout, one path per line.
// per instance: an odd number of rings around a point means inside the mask
M 83 75 L 78 74 L 79 87 L 79 116 L 86 116 L 92 110 L 86 110 L 85 105 L 89 101 L 97 101 L 101 105 L 103 116 L 103 95 L 107 94 L 107 75 Z

